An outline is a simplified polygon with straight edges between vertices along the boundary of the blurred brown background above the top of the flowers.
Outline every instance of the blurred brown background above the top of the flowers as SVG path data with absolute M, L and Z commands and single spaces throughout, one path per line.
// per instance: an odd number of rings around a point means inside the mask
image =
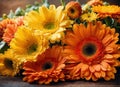
M 0 17 L 3 13 L 8 14 L 10 10 L 15 11 L 17 7 L 25 8 L 28 4 L 34 4 L 34 2 L 41 2 L 41 0 L 0 0 Z M 48 0 L 50 4 L 60 5 L 60 0 Z M 72 0 L 65 0 L 65 2 Z M 73 0 L 75 1 L 75 0 Z M 79 0 L 81 4 L 86 3 L 88 0 Z M 103 0 L 110 4 L 120 5 L 120 0 Z

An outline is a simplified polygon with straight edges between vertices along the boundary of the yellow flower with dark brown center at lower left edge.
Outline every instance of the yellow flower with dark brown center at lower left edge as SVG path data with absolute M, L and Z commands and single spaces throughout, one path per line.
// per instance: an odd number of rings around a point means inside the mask
M 0 55 L 0 75 L 15 76 L 19 73 L 21 62 L 15 58 L 12 50 L 7 50 L 3 56 Z

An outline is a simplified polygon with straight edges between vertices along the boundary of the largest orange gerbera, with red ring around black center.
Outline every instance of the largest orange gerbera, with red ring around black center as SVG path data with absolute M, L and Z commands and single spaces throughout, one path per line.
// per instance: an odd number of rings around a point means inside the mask
M 115 33 L 115 29 L 101 22 L 95 25 L 88 23 L 87 27 L 75 24 L 73 32 L 68 32 L 65 38 L 67 78 L 93 81 L 100 78 L 114 79 L 120 56 L 117 41 L 118 33 Z

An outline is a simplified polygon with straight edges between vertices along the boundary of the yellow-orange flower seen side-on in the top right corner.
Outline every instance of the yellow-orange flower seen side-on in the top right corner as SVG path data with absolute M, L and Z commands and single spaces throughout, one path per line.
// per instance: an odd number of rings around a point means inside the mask
M 112 18 L 120 18 L 120 7 L 117 5 L 93 6 L 92 10 L 98 13 L 100 18 L 110 16 Z

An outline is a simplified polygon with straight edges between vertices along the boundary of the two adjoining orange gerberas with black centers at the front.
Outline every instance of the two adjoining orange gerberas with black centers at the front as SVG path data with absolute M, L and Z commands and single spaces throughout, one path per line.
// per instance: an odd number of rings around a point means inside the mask
M 24 81 L 49 84 L 64 80 L 86 79 L 97 81 L 115 79 L 119 45 L 118 33 L 101 22 L 74 24 L 73 32 L 67 32 L 66 46 L 53 46 L 23 65 Z

